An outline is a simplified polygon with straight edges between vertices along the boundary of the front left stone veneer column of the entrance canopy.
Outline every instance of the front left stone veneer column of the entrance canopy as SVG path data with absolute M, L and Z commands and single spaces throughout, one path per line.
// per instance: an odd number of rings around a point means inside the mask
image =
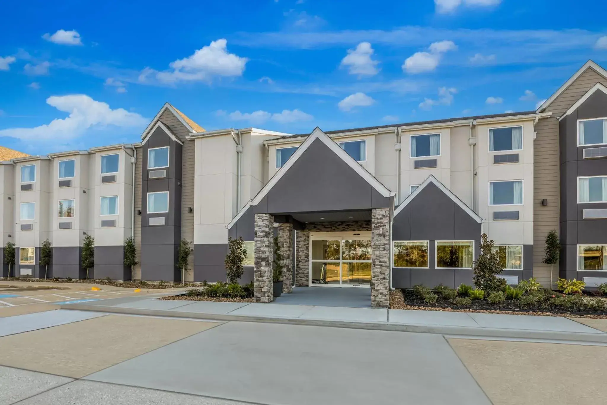
M 272 261 L 274 259 L 274 217 L 255 214 L 255 268 L 253 270 L 255 302 L 274 301 Z

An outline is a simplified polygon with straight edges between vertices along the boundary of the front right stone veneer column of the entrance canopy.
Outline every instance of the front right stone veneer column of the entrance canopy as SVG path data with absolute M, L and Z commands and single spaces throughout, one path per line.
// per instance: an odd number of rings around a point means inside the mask
M 390 209 L 371 211 L 371 307 L 390 305 Z

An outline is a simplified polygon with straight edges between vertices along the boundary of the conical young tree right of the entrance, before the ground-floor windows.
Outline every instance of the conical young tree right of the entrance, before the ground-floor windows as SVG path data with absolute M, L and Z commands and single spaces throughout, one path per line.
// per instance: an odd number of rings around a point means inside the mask
M 481 236 L 481 254 L 475 260 L 472 266 L 474 271 L 474 285 L 476 288 L 485 291 L 485 296 L 489 293 L 501 291 L 506 287 L 506 280 L 496 277 L 504 270 L 500 263 L 500 254 L 493 250 L 495 241 L 489 240 L 487 234 Z

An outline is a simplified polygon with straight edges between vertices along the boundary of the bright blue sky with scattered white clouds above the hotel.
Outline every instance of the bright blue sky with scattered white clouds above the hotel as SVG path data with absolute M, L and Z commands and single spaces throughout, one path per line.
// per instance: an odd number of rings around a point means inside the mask
M 607 60 L 596 0 L 68 0 L 3 12 L 0 145 L 30 154 L 138 141 L 165 101 L 208 130 L 288 133 L 527 111 L 586 60 Z

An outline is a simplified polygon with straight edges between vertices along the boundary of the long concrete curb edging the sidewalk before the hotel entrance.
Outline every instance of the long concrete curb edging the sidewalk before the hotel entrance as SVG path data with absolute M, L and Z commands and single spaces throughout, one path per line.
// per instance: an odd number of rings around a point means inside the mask
M 198 313 L 172 310 L 151 310 L 143 308 L 121 308 L 103 305 L 63 304 L 61 309 L 118 313 L 125 315 L 163 316 L 167 318 L 204 319 L 206 321 L 238 321 L 263 322 L 271 324 L 324 326 L 334 328 L 385 330 L 391 332 L 435 333 L 450 335 L 450 337 L 482 337 L 496 339 L 532 339 L 554 342 L 586 342 L 607 345 L 607 333 L 581 333 L 581 332 L 549 332 L 541 330 L 512 330 L 498 328 L 475 328 L 449 325 L 407 325 L 388 324 L 386 322 L 350 322 L 326 321 L 301 318 L 270 318 L 265 316 L 225 315 L 214 313 Z

